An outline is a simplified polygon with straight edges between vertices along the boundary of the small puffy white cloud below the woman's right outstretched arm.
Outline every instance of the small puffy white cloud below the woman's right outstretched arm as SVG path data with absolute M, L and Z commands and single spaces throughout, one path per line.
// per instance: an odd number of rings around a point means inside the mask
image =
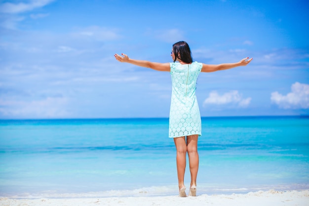
M 232 104 L 238 107 L 247 107 L 251 102 L 251 97 L 243 98 L 242 94 L 240 94 L 237 90 L 232 90 L 230 92 L 224 93 L 223 95 L 219 95 L 217 91 L 211 91 L 209 96 L 203 102 L 203 106 L 207 105 L 226 105 Z

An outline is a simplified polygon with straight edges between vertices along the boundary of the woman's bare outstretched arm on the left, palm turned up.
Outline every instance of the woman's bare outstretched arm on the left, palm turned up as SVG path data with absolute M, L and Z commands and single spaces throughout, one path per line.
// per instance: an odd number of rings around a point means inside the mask
M 122 56 L 115 54 L 115 58 L 119 62 L 127 62 L 127 63 L 134 64 L 140 67 L 147 67 L 147 68 L 151 68 L 151 69 L 162 71 L 162 72 L 170 71 L 169 63 L 157 63 L 157 62 L 150 62 L 150 61 L 145 61 L 145 60 L 136 60 L 136 59 L 130 59 L 128 55 L 126 54 L 121 54 L 121 55 Z

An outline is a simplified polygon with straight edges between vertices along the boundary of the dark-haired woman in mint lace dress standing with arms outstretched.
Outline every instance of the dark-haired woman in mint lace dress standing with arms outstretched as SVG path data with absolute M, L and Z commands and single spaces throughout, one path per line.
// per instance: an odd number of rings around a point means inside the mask
M 127 62 L 157 71 L 170 72 L 172 76 L 172 98 L 169 116 L 169 137 L 174 138 L 179 185 L 179 196 L 187 197 L 184 176 L 186 154 L 188 152 L 191 173 L 190 196 L 196 196 L 196 176 L 198 171 L 197 138 L 201 135 L 201 118 L 195 96 L 196 80 L 200 72 L 215 72 L 246 66 L 251 62 L 249 57 L 237 63 L 209 65 L 193 62 L 187 42 L 173 44 L 171 57 L 173 63 L 156 63 L 130 59 L 126 54 L 115 54 L 119 62 Z

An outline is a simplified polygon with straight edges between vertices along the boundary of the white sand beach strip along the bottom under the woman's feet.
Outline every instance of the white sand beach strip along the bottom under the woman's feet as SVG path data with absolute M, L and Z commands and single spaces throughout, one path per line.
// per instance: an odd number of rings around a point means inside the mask
M 309 190 L 258 191 L 232 195 L 198 195 L 109 198 L 1 198 L 1 206 L 309 206 Z

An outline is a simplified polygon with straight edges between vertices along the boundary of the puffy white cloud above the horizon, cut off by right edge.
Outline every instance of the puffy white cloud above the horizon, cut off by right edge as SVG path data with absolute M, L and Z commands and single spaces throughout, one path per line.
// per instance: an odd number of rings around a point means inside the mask
M 277 91 L 272 92 L 270 100 L 283 109 L 308 109 L 309 84 L 295 82 L 291 86 L 290 93 L 282 95 Z

